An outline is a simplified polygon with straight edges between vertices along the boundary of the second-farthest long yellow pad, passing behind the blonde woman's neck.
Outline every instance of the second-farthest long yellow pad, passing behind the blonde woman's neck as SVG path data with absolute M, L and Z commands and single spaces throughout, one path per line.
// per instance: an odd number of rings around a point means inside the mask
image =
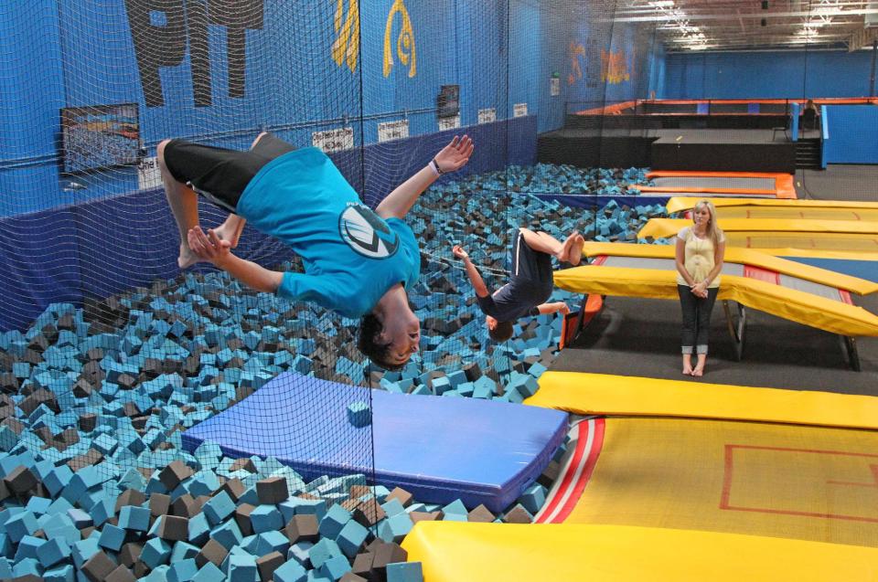
M 840 233 L 873 235 L 878 234 L 878 222 L 856 220 L 793 220 L 765 218 L 729 218 L 724 219 L 717 211 L 720 219 L 717 224 L 726 232 L 808 232 L 808 233 Z M 676 237 L 683 227 L 691 227 L 692 221 L 687 218 L 650 218 L 640 228 L 637 238 L 668 238 Z

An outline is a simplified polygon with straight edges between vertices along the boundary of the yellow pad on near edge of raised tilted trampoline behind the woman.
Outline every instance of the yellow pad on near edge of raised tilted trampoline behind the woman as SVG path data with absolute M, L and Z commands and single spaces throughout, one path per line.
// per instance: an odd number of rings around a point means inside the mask
M 677 273 L 672 270 L 585 265 L 555 271 L 554 280 L 565 291 L 680 301 Z M 830 333 L 878 336 L 878 316 L 862 307 L 763 280 L 723 275 L 717 300 L 739 302 Z

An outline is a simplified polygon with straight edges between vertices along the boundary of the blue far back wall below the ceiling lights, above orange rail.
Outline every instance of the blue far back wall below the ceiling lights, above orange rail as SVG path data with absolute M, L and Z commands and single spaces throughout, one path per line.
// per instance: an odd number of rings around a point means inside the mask
M 870 51 L 671 53 L 664 99 L 802 99 L 870 94 Z

